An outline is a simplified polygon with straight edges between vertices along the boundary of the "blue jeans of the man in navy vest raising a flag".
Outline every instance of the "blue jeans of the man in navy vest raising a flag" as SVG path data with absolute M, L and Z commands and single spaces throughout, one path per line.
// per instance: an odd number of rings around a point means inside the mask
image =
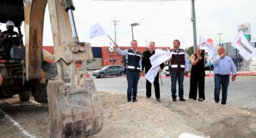
M 136 100 L 138 82 L 139 82 L 139 79 L 140 79 L 140 72 L 139 71 L 126 70 L 126 79 L 127 79 L 127 82 L 128 82 L 127 100 L 131 101 L 131 95 L 132 94 L 133 94 L 133 100 Z

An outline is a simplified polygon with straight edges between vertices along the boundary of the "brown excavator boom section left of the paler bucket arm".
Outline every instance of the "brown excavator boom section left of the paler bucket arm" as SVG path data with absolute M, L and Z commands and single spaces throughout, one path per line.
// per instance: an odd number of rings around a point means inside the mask
M 24 1 L 26 79 L 40 79 L 43 21 L 47 0 Z

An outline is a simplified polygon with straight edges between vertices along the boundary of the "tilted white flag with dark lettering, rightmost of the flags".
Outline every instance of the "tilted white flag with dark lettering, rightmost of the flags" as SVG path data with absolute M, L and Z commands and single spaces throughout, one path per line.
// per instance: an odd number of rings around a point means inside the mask
M 254 55 L 256 54 L 256 50 L 254 49 L 254 47 L 251 46 L 251 44 L 245 38 L 245 35 L 243 35 L 243 32 L 241 30 L 237 34 L 231 46 L 239 50 L 239 54 L 243 56 L 243 58 L 245 58 L 246 61 L 249 61 L 249 59 L 254 57 Z

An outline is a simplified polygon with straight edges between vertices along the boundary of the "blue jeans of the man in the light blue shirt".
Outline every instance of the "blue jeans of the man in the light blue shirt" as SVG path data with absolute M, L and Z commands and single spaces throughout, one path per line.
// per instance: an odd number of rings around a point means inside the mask
M 226 104 L 226 97 L 228 96 L 229 75 L 214 74 L 214 100 L 219 102 L 220 89 L 222 88 L 221 104 Z

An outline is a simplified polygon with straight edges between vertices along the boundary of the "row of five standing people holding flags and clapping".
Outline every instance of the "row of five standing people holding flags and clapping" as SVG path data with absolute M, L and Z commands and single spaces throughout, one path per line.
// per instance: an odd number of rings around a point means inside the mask
M 145 73 L 151 68 L 150 57 L 155 53 L 155 43 L 151 41 L 148 46 L 148 50 L 140 53 L 137 50 L 137 41 L 131 41 L 131 48 L 121 50 L 117 43 L 114 43 L 117 52 L 126 58 L 126 79 L 128 82 L 127 88 L 127 101 L 137 101 L 137 86 L 140 76 L 144 76 Z M 171 92 L 172 101 L 176 102 L 176 82 L 178 82 L 178 97 L 179 101 L 186 101 L 184 99 L 184 75 L 189 74 L 189 59 L 184 49 L 180 49 L 180 41 L 173 41 L 172 58 L 169 59 L 169 69 L 171 76 Z M 226 97 L 228 93 L 229 74 L 232 73 L 231 80 L 236 80 L 236 65 L 233 60 L 226 56 L 225 49 L 223 47 L 217 48 L 218 56 L 213 59 L 214 65 L 214 101 L 219 103 L 220 89 L 222 89 L 221 104 L 226 104 Z M 202 49 L 196 49 L 196 52 L 191 56 L 192 70 L 190 73 L 190 91 L 189 98 L 196 100 L 197 93 L 199 92 L 198 101 L 205 100 L 205 52 Z M 160 69 L 154 80 L 155 98 L 160 100 L 160 86 L 158 82 L 159 73 L 164 68 L 164 63 L 160 64 Z M 198 92 L 197 92 L 198 91 Z M 151 98 L 151 82 L 146 80 L 146 97 Z

